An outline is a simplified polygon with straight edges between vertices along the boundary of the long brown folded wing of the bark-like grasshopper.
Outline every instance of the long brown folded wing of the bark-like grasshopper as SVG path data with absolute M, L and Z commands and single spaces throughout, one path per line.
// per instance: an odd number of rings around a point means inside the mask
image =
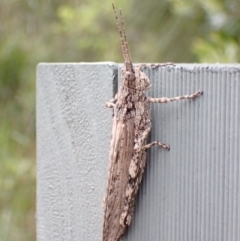
M 119 240 L 126 227 L 120 225 L 124 211 L 129 165 L 133 156 L 134 120 L 113 118 L 109 156 L 108 183 L 105 198 L 103 241 Z

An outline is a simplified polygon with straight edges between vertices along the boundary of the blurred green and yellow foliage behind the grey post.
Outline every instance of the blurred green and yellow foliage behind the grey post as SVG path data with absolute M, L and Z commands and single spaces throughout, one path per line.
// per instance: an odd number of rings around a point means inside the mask
M 0 241 L 36 240 L 36 65 L 122 62 L 111 6 L 0 0 Z M 114 0 L 134 62 L 240 60 L 239 0 Z

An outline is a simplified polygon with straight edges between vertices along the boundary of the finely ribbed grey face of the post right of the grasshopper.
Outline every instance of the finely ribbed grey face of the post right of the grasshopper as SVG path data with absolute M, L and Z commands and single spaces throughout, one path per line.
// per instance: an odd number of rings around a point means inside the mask
M 240 240 L 239 65 L 145 69 L 151 97 L 202 89 L 203 96 L 152 104 L 149 151 L 126 240 Z

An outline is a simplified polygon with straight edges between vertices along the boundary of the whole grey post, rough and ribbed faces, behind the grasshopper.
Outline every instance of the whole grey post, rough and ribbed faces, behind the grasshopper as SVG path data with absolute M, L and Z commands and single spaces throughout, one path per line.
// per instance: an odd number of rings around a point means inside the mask
M 240 66 L 145 72 L 148 96 L 204 94 L 151 104 L 149 141 L 171 150 L 149 151 L 125 240 L 240 240 Z M 101 240 L 114 73 L 110 63 L 38 66 L 38 241 Z

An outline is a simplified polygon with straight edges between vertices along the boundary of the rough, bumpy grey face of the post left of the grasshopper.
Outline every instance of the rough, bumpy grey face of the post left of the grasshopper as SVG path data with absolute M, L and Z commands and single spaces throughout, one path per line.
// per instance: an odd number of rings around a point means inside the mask
M 116 65 L 37 68 L 37 235 L 100 240 Z

